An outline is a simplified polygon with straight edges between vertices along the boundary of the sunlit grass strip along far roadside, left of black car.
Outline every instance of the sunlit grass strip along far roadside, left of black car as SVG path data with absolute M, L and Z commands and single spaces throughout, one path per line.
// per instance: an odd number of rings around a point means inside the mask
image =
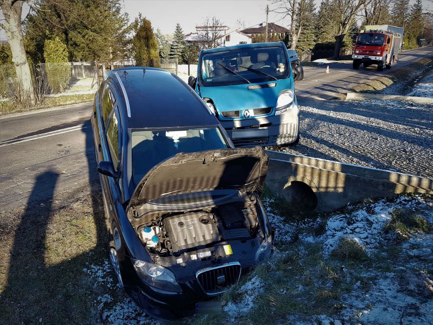
M 12 100 L 9 101 L 1 101 L 0 102 L 0 115 L 11 114 L 11 113 L 20 113 L 27 111 L 35 111 L 40 109 L 46 109 L 48 107 L 53 106 L 62 106 L 69 104 L 76 104 L 80 102 L 86 102 L 93 100 L 95 94 L 82 94 L 82 95 L 68 95 L 68 96 L 59 96 L 59 97 L 48 97 L 45 98 L 44 104 L 24 107 L 20 106 Z

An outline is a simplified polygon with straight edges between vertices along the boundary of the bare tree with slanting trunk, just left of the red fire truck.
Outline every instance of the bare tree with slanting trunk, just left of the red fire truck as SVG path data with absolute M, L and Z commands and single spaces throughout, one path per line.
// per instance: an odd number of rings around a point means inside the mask
M 356 15 L 365 5 L 367 0 L 336 0 L 335 12 L 337 25 L 337 35 L 335 36 L 334 58 L 340 57 L 340 49 L 344 36 L 349 31 L 350 26 L 355 20 Z

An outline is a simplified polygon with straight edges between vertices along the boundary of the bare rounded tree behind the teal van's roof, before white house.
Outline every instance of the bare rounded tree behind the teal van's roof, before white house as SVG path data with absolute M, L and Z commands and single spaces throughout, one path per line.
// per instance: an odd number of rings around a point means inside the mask
M 223 22 L 218 18 L 207 17 L 201 26 L 197 26 L 196 41 L 202 49 L 213 49 L 222 45 L 224 36 Z

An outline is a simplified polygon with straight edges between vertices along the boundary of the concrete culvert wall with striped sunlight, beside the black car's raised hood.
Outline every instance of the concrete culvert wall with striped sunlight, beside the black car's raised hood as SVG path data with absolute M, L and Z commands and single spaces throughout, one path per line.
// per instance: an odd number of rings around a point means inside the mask
M 365 198 L 433 193 L 433 179 L 336 161 L 266 151 L 266 185 L 274 195 L 332 211 Z

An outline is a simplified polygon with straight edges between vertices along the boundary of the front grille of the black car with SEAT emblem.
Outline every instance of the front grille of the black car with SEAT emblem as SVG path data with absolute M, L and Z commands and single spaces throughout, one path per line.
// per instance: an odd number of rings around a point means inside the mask
M 241 266 L 238 262 L 231 262 L 218 267 L 200 270 L 197 272 L 197 281 L 207 295 L 224 292 L 235 284 L 240 277 Z

